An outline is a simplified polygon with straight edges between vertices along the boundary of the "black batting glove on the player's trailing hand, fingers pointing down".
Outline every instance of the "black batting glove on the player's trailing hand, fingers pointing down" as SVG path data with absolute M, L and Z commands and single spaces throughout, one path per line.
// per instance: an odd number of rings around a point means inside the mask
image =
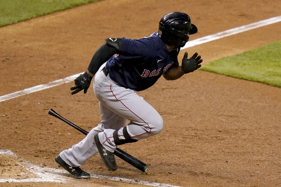
M 75 80 L 75 86 L 71 87 L 70 90 L 74 90 L 71 92 L 71 95 L 78 93 L 79 91 L 84 89 L 84 93 L 87 93 L 88 88 L 90 87 L 91 80 L 93 77 L 91 77 L 87 72 L 85 72 L 83 75 L 79 75 Z

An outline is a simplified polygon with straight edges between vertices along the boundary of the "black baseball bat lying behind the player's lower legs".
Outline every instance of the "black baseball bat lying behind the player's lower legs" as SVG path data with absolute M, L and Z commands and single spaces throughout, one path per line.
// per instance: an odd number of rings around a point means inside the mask
M 89 134 L 84 129 L 81 129 L 77 125 L 73 124 L 72 122 L 66 120 L 64 117 L 62 117 L 61 115 L 56 113 L 52 108 L 49 110 L 48 114 L 52 115 L 52 116 L 54 116 L 54 117 L 56 117 L 58 119 L 60 119 L 61 121 L 67 123 L 71 127 L 74 127 L 75 129 L 77 129 L 78 131 L 82 132 L 85 135 Z M 114 155 L 116 155 L 119 158 L 121 158 L 122 160 L 128 162 L 129 164 L 131 164 L 133 167 L 136 167 L 140 171 L 147 172 L 147 169 L 148 169 L 148 165 L 147 164 L 145 164 L 144 162 L 138 160 L 137 158 L 133 157 L 132 155 L 126 153 L 125 151 L 123 151 L 123 150 L 121 150 L 119 148 L 116 148 L 115 151 L 114 151 Z

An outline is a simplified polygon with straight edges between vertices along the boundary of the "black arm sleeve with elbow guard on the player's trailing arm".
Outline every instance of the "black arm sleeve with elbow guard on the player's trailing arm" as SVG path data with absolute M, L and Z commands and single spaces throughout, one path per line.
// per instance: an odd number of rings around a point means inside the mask
M 106 43 L 103 44 L 94 54 L 89 66 L 88 71 L 96 74 L 100 66 L 105 63 L 114 54 L 119 53 L 122 46 L 122 38 L 107 38 Z

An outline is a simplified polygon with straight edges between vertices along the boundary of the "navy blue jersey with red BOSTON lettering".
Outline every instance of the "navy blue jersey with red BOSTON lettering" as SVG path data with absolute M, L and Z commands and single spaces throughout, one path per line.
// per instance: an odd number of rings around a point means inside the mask
M 167 50 L 157 32 L 141 39 L 122 38 L 120 53 L 111 57 L 106 69 L 120 86 L 142 91 L 152 86 L 160 76 L 179 66 L 179 48 Z

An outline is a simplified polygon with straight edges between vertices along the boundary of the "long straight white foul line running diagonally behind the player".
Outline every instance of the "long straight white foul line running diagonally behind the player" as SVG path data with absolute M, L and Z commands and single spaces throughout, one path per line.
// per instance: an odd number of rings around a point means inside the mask
M 191 40 L 191 41 L 187 42 L 186 45 L 184 47 L 182 47 L 181 49 L 186 49 L 186 48 L 189 48 L 189 47 L 197 46 L 197 45 L 209 42 L 209 41 L 214 41 L 214 40 L 217 40 L 217 39 L 220 39 L 220 38 L 223 38 L 223 37 L 227 37 L 227 36 L 230 36 L 230 35 L 233 35 L 233 34 L 238 34 L 240 32 L 245 32 L 245 31 L 248 31 L 248 30 L 251 30 L 251 29 L 256 29 L 258 27 L 263 27 L 265 25 L 270 25 L 270 24 L 277 23 L 277 22 L 280 22 L 280 21 L 281 21 L 281 15 L 273 17 L 273 18 L 261 20 L 261 21 L 258 21 L 258 22 L 250 23 L 248 25 L 243 25 L 243 26 L 236 27 L 236 28 L 233 28 L 233 29 L 225 30 L 225 31 L 222 31 L 222 32 L 218 32 L 216 34 L 211 34 L 211 35 L 208 35 L 208 36 L 205 36 L 205 37 L 201 37 L 201 38 L 198 38 L 198 39 Z M 9 100 L 9 99 L 12 99 L 12 98 L 16 98 L 16 97 L 19 97 L 19 96 L 23 96 L 23 95 L 26 95 L 26 94 L 29 94 L 29 93 L 33 93 L 33 92 L 36 92 L 36 91 L 51 88 L 51 87 L 54 87 L 54 86 L 58 86 L 58 85 L 61 85 L 61 84 L 64 84 L 64 83 L 71 82 L 80 74 L 81 73 L 78 73 L 78 74 L 66 77 L 64 79 L 52 81 L 52 82 L 49 82 L 47 84 L 40 84 L 40 85 L 37 85 L 37 86 L 33 86 L 31 88 L 27 88 L 27 89 L 24 89 L 24 90 L 21 90 L 21 91 L 16 91 L 14 93 L 9 93 L 7 95 L 0 96 L 0 102 L 6 101 L 6 100 Z

